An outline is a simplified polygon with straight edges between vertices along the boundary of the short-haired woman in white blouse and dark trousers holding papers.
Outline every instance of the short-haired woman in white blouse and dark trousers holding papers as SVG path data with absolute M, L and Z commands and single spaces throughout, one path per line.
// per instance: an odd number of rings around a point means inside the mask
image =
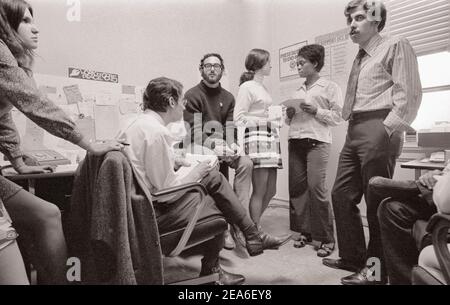
M 294 93 L 298 107 L 286 110 L 289 128 L 290 227 L 298 232 L 295 247 L 312 240 L 321 246 L 317 255 L 334 250 L 331 207 L 325 187 L 331 146 L 331 126 L 342 122 L 342 94 L 339 86 L 319 72 L 325 50 L 318 44 L 301 48 L 297 57 L 299 76 L 305 79 Z

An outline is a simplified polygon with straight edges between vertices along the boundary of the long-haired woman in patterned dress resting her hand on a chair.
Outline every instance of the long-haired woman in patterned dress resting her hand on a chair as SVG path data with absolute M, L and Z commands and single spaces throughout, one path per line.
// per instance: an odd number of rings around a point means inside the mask
M 25 165 L 10 113 L 13 107 L 51 134 L 94 154 L 122 149 L 117 141 L 89 143 L 75 123 L 36 88 L 32 64 L 38 33 L 27 2 L 0 0 L 0 152 L 18 173 L 52 170 Z M 28 283 L 11 223 L 34 245 L 31 259 L 40 282 L 64 283 L 67 249 L 59 209 L 0 176 L 0 284 Z

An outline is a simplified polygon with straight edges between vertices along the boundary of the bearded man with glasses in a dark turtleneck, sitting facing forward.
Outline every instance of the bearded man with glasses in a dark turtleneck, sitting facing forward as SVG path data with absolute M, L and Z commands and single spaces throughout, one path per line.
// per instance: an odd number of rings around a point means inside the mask
M 220 54 L 208 53 L 200 60 L 202 80 L 189 89 L 184 120 L 189 123 L 190 142 L 212 149 L 221 161 L 221 172 L 227 176 L 228 167 L 235 170 L 234 191 L 247 209 L 250 201 L 253 163 L 247 156 L 239 155 L 233 123 L 235 100 L 222 88 L 220 80 L 224 72 Z M 235 243 L 229 231 L 225 235 L 225 249 L 233 249 Z

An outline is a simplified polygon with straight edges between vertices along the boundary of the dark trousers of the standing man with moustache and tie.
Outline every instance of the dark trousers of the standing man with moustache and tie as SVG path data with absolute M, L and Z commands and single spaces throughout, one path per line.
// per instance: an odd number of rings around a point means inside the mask
M 361 267 L 370 257 L 382 261 L 383 253 L 377 219 L 383 198 L 368 194 L 369 180 L 374 176 L 392 178 L 402 146 L 401 133 L 394 132 L 389 137 L 385 130 L 383 120 L 387 113 L 366 112 L 350 120 L 332 190 L 339 256 Z M 363 195 L 370 235 L 367 248 L 358 208 Z

